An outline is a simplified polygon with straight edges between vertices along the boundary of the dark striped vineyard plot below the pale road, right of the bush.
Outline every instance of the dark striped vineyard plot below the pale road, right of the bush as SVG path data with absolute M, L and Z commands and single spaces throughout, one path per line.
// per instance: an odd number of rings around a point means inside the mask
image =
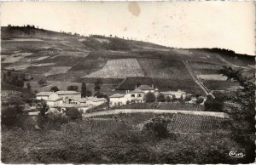
M 224 119 L 220 117 L 175 114 L 168 128 L 175 133 L 211 133 L 218 131 Z

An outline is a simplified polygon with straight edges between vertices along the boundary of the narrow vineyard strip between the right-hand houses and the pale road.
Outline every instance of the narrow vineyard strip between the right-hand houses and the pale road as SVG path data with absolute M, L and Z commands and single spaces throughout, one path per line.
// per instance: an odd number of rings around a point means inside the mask
M 179 111 L 204 111 L 203 105 L 193 105 L 189 103 L 137 103 L 121 105 L 117 109 L 159 109 L 159 110 L 179 110 Z

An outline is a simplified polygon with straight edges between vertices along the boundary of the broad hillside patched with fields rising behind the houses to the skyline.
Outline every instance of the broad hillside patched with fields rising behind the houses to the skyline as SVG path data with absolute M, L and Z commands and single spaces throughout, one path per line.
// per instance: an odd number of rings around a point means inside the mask
M 167 48 L 119 37 L 82 37 L 34 27 L 2 27 L 1 35 L 2 69 L 30 74 L 33 77 L 31 83 L 35 84 L 32 88 L 39 88 L 36 82 L 40 79 L 94 83 L 97 78 L 102 78 L 104 84 L 118 86 L 125 77 L 145 77 L 153 79 L 156 87 L 182 88 L 189 93 L 201 94 L 195 77 L 212 77 L 212 74 L 218 74 L 222 65 L 247 70 L 254 65 L 253 57 L 222 49 Z M 200 81 L 208 84 L 209 78 Z M 162 87 L 163 82 L 165 87 Z M 220 83 L 215 82 L 218 87 Z M 227 88 L 233 86 L 228 84 Z

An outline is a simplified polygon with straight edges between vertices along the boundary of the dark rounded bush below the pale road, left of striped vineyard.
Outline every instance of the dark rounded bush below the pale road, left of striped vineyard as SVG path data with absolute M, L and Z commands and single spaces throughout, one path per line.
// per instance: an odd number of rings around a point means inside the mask
M 170 122 L 170 117 L 153 117 L 144 123 L 143 132 L 157 138 L 166 138 L 169 134 L 167 126 Z

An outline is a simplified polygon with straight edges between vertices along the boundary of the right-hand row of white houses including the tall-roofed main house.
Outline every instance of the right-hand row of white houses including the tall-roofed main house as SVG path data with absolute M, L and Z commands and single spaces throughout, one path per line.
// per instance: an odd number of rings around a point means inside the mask
M 143 103 L 143 98 L 148 94 L 148 92 L 153 93 L 156 98 L 160 94 L 163 94 L 165 98 L 170 97 L 170 99 L 173 97 L 177 99 L 184 99 L 186 97 L 186 93 L 182 90 L 160 92 L 158 88 L 154 88 L 154 85 L 151 87 L 148 85 L 140 85 L 139 87 L 136 86 L 134 90 L 126 90 L 125 94 L 113 94 L 109 96 L 109 106 L 114 107 L 130 103 Z

